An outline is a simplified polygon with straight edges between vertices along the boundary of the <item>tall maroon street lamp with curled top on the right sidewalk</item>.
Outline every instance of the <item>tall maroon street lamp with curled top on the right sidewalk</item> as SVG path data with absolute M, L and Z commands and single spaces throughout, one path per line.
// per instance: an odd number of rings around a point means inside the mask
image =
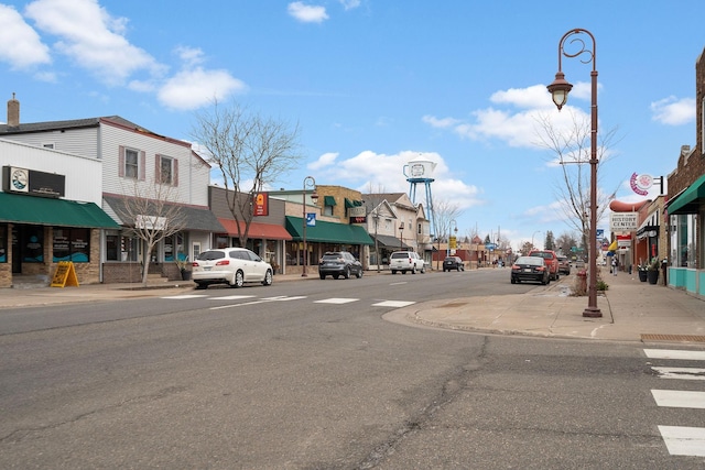
M 579 50 L 575 53 L 565 51 L 565 42 L 573 35 L 586 34 L 593 42 L 593 48 L 586 48 L 585 41 L 582 37 L 573 37 L 570 44 L 577 43 Z M 583 311 L 584 317 L 598 318 L 603 313 L 597 307 L 597 256 L 595 253 L 597 240 L 597 44 L 595 36 L 587 30 L 571 30 L 561 37 L 558 43 L 558 72 L 555 74 L 555 80 L 547 86 L 553 102 L 561 111 L 561 108 L 568 100 L 568 92 L 573 85 L 565 80 L 565 75 L 561 68 L 562 56 L 573 58 L 587 54 L 586 59 L 582 59 L 584 64 L 593 63 L 590 72 L 590 234 L 587 243 L 588 263 L 588 285 L 587 285 L 587 308 Z

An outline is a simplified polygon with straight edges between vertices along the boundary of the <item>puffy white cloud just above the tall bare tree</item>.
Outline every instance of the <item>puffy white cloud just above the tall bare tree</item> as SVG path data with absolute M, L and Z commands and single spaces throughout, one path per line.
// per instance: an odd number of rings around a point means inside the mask
M 191 110 L 210 102 L 214 98 L 223 99 L 246 88 L 242 81 L 234 78 L 227 70 L 205 70 L 196 67 L 182 70 L 167 79 L 159 89 L 158 98 L 169 108 Z

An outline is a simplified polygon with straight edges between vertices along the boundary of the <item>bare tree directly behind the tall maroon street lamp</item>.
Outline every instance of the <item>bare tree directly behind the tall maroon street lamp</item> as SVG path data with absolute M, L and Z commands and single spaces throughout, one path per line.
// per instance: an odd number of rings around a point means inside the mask
M 561 178 L 554 185 L 555 195 L 561 203 L 561 209 L 566 216 L 566 223 L 575 228 L 582 237 L 583 245 L 587 247 L 589 237 L 589 201 L 590 201 L 590 122 L 587 116 L 570 112 L 571 127 L 558 129 L 547 114 L 536 118 L 539 146 L 555 155 L 561 167 Z M 617 129 L 600 131 L 597 147 L 597 184 L 599 186 L 600 168 L 610 160 L 610 147 L 618 141 Z M 607 210 L 612 193 L 597 192 L 597 219 L 601 219 Z

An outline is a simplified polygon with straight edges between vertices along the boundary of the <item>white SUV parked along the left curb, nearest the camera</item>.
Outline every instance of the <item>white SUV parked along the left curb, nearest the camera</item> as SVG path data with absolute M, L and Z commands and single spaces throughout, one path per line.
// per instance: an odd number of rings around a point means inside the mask
M 271 264 L 246 248 L 206 250 L 193 262 L 192 280 L 196 288 L 207 288 L 210 284 L 241 287 L 251 282 L 271 285 L 272 276 Z

